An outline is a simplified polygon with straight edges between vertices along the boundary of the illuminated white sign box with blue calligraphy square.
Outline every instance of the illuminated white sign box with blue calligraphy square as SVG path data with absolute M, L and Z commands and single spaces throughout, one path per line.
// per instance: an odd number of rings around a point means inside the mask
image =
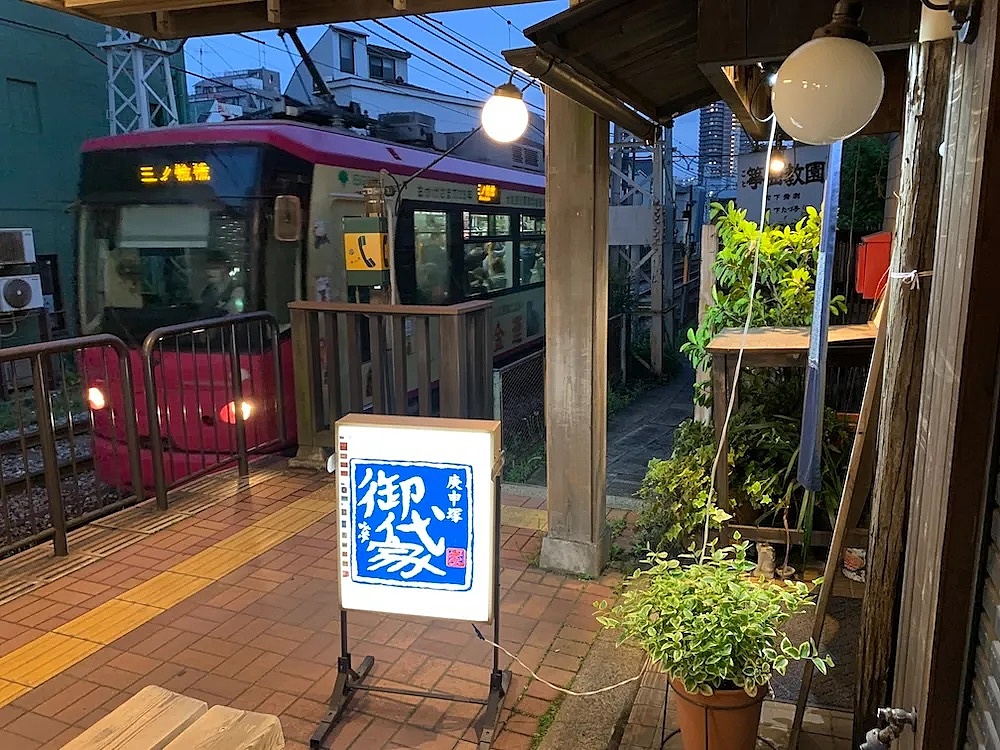
M 499 423 L 353 414 L 328 469 L 339 489 L 344 609 L 491 617 Z

